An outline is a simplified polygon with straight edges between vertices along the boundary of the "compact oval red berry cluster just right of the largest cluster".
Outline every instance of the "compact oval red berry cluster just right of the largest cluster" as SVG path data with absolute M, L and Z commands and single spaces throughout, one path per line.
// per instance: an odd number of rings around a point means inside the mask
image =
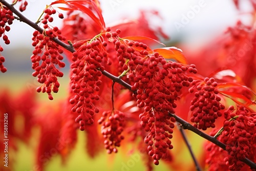
M 225 109 L 225 106 L 220 103 L 221 98 L 217 96 L 218 83 L 214 78 L 206 77 L 204 80 L 194 80 L 192 85 L 189 92 L 195 92 L 195 98 L 190 106 L 190 111 L 193 112 L 191 122 L 195 122 L 194 126 L 202 130 L 215 127 L 215 120 L 222 116 L 220 110 Z

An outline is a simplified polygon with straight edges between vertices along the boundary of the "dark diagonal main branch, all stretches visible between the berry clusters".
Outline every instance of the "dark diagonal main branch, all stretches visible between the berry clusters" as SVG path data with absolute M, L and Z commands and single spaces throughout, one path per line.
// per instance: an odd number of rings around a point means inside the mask
M 35 30 L 39 31 L 40 33 L 42 33 L 44 31 L 44 29 L 40 28 L 36 23 L 33 23 L 31 20 L 29 20 L 27 17 L 25 17 L 22 13 L 20 13 L 18 10 L 16 10 L 11 4 L 9 4 L 8 2 L 4 1 L 4 0 L 0 0 L 0 3 L 2 3 L 3 5 L 5 5 L 8 9 L 10 9 L 14 14 L 16 14 L 19 17 L 20 22 L 24 22 L 27 25 L 29 25 L 30 27 L 34 28 Z M 67 49 L 70 52 L 75 52 L 75 49 L 68 44 L 65 44 L 64 42 L 60 41 L 58 38 L 53 38 L 53 40 L 60 45 L 61 47 Z M 106 77 L 112 79 L 113 81 L 121 84 L 123 87 L 125 87 L 126 89 L 131 90 L 131 85 L 126 83 L 125 81 L 123 81 L 122 79 L 120 79 L 119 77 L 116 77 L 114 75 L 112 75 L 111 73 L 107 72 L 107 71 L 101 71 L 103 75 L 105 75 Z M 209 136 L 205 133 L 203 133 L 202 131 L 198 130 L 196 127 L 194 127 L 193 125 L 191 125 L 190 123 L 188 123 L 187 121 L 183 120 L 182 118 L 178 117 L 177 115 L 174 114 L 170 114 L 172 117 L 174 117 L 176 119 L 177 122 L 179 122 L 182 126 L 183 129 L 187 129 L 189 131 L 192 131 L 194 133 L 196 133 L 197 135 L 203 137 L 204 139 L 207 139 L 208 141 L 215 143 L 216 145 L 218 145 L 219 147 L 223 148 L 225 150 L 226 145 L 223 144 L 222 142 L 218 141 L 217 139 L 215 139 L 212 136 Z M 252 161 L 250 161 L 249 159 L 245 158 L 244 160 L 242 160 L 244 163 L 246 163 L 248 166 L 250 166 L 252 169 L 256 169 L 256 163 L 253 163 Z

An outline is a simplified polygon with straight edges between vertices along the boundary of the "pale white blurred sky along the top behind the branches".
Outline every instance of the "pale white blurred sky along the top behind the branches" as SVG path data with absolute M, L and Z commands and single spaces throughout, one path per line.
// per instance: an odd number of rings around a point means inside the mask
M 245 9 L 248 1 L 244 0 Z M 29 5 L 24 15 L 36 21 L 41 11 L 51 2 L 53 1 L 28 0 Z M 106 26 L 111 26 L 111 23 L 116 23 L 124 17 L 134 19 L 140 9 L 158 10 L 163 19 L 152 19 L 152 25 L 161 25 L 163 31 L 173 40 L 181 38 L 192 44 L 195 40 L 197 44 L 200 42 L 203 44 L 206 39 L 222 33 L 227 26 L 233 26 L 237 19 L 243 18 L 244 15 L 238 15 L 232 0 L 104 0 L 100 2 Z M 54 24 L 60 27 L 61 20 L 55 21 Z M 0 45 L 4 49 L 29 47 L 33 31 L 28 25 L 15 21 L 7 34 L 11 45 L 5 46 L 2 39 Z

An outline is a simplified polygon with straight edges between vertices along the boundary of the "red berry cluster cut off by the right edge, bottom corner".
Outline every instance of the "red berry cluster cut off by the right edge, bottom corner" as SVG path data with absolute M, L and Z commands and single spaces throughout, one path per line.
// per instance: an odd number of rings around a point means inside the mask
M 244 106 L 234 110 L 230 106 L 224 112 L 224 125 L 221 137 L 228 156 L 224 159 L 229 170 L 240 170 L 245 164 L 241 161 L 251 155 L 256 139 L 256 115 Z

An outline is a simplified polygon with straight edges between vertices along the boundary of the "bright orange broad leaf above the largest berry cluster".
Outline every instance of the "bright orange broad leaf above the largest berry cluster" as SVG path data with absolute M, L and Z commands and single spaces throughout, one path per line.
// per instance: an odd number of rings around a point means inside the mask
M 187 60 L 183 55 L 182 51 L 176 47 L 157 48 L 154 49 L 153 52 L 158 52 L 165 59 L 175 59 L 180 63 L 187 64 Z

